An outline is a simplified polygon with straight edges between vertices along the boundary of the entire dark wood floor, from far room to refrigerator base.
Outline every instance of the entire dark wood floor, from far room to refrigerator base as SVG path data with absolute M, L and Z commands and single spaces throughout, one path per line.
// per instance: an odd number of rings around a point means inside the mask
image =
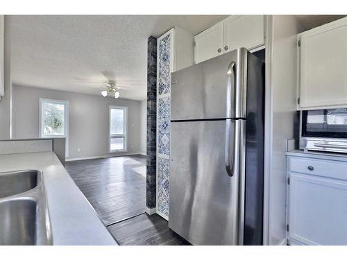
M 146 157 L 67 162 L 66 169 L 119 244 L 188 244 L 169 229 L 167 220 L 144 213 Z

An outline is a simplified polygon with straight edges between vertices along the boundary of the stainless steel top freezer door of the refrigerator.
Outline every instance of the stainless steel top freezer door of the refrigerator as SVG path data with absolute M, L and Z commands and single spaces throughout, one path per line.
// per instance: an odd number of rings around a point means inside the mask
M 242 48 L 172 73 L 171 120 L 246 117 L 247 58 Z

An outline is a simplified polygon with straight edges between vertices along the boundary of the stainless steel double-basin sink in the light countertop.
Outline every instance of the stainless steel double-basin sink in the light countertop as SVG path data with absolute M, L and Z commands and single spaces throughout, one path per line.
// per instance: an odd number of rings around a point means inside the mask
M 52 245 L 41 171 L 0 173 L 0 245 Z

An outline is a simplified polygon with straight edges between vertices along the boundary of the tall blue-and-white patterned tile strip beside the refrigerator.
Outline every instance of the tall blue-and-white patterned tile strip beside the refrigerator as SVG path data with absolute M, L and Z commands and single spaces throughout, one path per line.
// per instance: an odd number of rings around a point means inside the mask
M 169 217 L 171 40 L 173 30 L 158 39 L 157 214 Z

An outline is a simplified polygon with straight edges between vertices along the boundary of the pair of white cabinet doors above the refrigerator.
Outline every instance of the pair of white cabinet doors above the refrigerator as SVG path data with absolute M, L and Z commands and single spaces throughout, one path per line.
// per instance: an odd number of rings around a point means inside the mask
M 255 51 L 265 42 L 264 15 L 231 15 L 195 36 L 195 63 L 245 47 Z

